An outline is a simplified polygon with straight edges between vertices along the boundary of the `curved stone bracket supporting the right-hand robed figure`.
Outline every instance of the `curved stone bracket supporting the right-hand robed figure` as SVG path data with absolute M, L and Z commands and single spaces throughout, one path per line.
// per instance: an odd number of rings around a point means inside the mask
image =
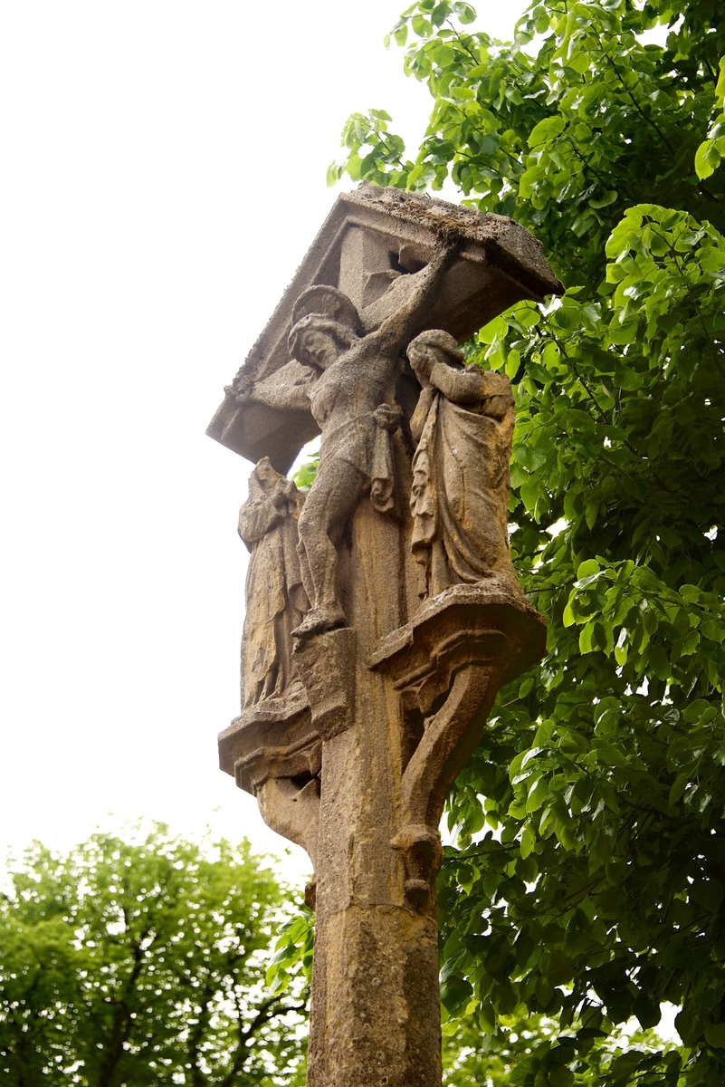
M 447 792 L 481 740 L 498 688 L 538 660 L 545 644 L 544 621 L 524 597 L 454 586 L 381 639 L 369 661 L 399 692 L 405 769 L 392 845 L 404 854 L 406 896 L 421 912 L 434 903 Z

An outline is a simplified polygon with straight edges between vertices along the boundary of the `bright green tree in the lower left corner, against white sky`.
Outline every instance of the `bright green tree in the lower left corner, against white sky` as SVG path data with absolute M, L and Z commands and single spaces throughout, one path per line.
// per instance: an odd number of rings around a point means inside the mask
M 265 987 L 282 892 L 249 844 L 154 825 L 60 857 L 35 844 L 0 902 L 8 1087 L 304 1083 L 304 992 Z

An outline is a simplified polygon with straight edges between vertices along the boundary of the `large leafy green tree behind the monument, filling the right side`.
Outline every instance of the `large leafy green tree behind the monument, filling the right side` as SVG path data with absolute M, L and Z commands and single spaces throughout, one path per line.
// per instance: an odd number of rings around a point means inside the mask
M 392 32 L 433 98 L 419 154 L 373 111 L 330 171 L 453 183 L 568 287 L 466 348 L 514 385 L 512 551 L 549 637 L 449 799 L 442 995 L 494 1037 L 556 1021 L 519 1087 L 725 1083 L 723 14 L 536 3 L 503 45 L 420 0 Z M 663 1001 L 679 1050 L 612 1048 Z

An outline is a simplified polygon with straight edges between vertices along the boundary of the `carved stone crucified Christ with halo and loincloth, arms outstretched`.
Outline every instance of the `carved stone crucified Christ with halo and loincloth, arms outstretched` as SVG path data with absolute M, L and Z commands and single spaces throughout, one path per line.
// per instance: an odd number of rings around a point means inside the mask
M 457 248 L 457 241 L 440 243 L 431 263 L 416 273 L 415 287 L 398 310 L 367 335 L 360 335 L 359 316 L 346 296 L 330 287 L 310 288 L 323 292 L 328 301 L 334 299 L 336 320 L 329 313 L 307 312 L 290 333 L 294 361 L 247 393 L 270 407 L 311 411 L 322 433 L 319 468 L 298 523 L 302 572 L 311 607 L 293 632 L 297 638 L 345 624 L 336 587 L 336 544 L 360 496 L 369 490 L 374 509 L 394 511 L 390 442 L 400 416 L 393 402 L 403 367 L 400 352 L 416 325 L 420 327 Z M 300 364 L 306 367 L 305 376 Z

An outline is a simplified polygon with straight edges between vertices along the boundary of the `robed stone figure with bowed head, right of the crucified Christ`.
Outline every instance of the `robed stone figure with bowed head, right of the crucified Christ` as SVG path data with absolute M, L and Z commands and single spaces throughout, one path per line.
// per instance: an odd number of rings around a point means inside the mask
M 508 541 L 511 383 L 466 365 L 453 336 L 438 329 L 421 333 L 408 359 L 422 386 L 410 424 L 410 508 L 425 596 L 484 580 L 521 596 Z

